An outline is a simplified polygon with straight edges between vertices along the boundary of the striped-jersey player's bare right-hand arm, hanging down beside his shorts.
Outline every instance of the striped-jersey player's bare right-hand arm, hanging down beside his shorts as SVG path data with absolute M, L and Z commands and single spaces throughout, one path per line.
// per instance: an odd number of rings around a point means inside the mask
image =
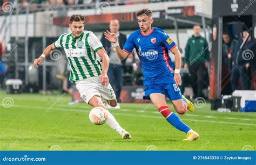
M 100 82 L 104 86 L 105 84 L 109 84 L 109 77 L 107 77 L 107 70 L 109 70 L 109 56 L 104 48 L 98 49 L 96 53 L 102 59 L 102 73 L 100 74 Z

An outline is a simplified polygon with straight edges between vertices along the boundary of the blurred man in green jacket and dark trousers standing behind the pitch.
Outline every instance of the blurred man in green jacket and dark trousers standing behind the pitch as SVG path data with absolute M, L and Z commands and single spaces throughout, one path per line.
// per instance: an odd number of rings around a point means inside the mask
M 194 25 L 194 35 L 187 41 L 185 48 L 184 68 L 190 72 L 190 80 L 195 97 L 203 97 L 202 91 L 206 82 L 203 80 L 205 73 L 207 74 L 208 61 L 210 53 L 208 51 L 208 43 L 204 37 L 201 37 L 201 27 Z

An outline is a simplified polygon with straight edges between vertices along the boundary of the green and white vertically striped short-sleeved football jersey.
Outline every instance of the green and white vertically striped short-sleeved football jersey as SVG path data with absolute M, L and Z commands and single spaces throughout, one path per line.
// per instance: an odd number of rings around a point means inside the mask
M 73 38 L 72 33 L 62 34 L 54 42 L 54 46 L 64 48 L 71 68 L 70 81 L 76 82 L 100 75 L 102 63 L 97 60 L 96 52 L 103 46 L 92 32 L 82 32 L 78 38 Z

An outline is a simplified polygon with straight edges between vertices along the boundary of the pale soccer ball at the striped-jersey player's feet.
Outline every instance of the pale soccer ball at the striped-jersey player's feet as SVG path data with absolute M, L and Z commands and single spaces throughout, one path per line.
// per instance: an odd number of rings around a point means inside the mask
M 106 110 L 99 106 L 94 107 L 89 114 L 91 123 L 95 125 L 103 125 L 106 123 L 107 117 L 108 116 Z

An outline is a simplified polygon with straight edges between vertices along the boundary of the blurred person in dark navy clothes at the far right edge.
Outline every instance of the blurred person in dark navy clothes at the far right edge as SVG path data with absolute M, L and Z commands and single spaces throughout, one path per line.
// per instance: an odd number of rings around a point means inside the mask
M 248 39 L 245 42 L 245 45 L 240 50 L 240 46 L 243 41 L 245 41 L 246 36 L 249 34 Z M 248 85 L 248 69 L 250 67 L 250 63 L 253 63 L 253 49 L 256 46 L 255 40 L 253 36 L 247 31 L 242 31 L 242 38 L 238 40 L 235 45 L 235 51 L 232 56 L 233 65 L 232 65 L 232 73 L 231 73 L 231 84 L 232 91 L 238 89 L 238 80 L 240 78 L 242 90 L 250 89 Z M 255 70 L 255 64 L 253 63 L 252 70 Z

